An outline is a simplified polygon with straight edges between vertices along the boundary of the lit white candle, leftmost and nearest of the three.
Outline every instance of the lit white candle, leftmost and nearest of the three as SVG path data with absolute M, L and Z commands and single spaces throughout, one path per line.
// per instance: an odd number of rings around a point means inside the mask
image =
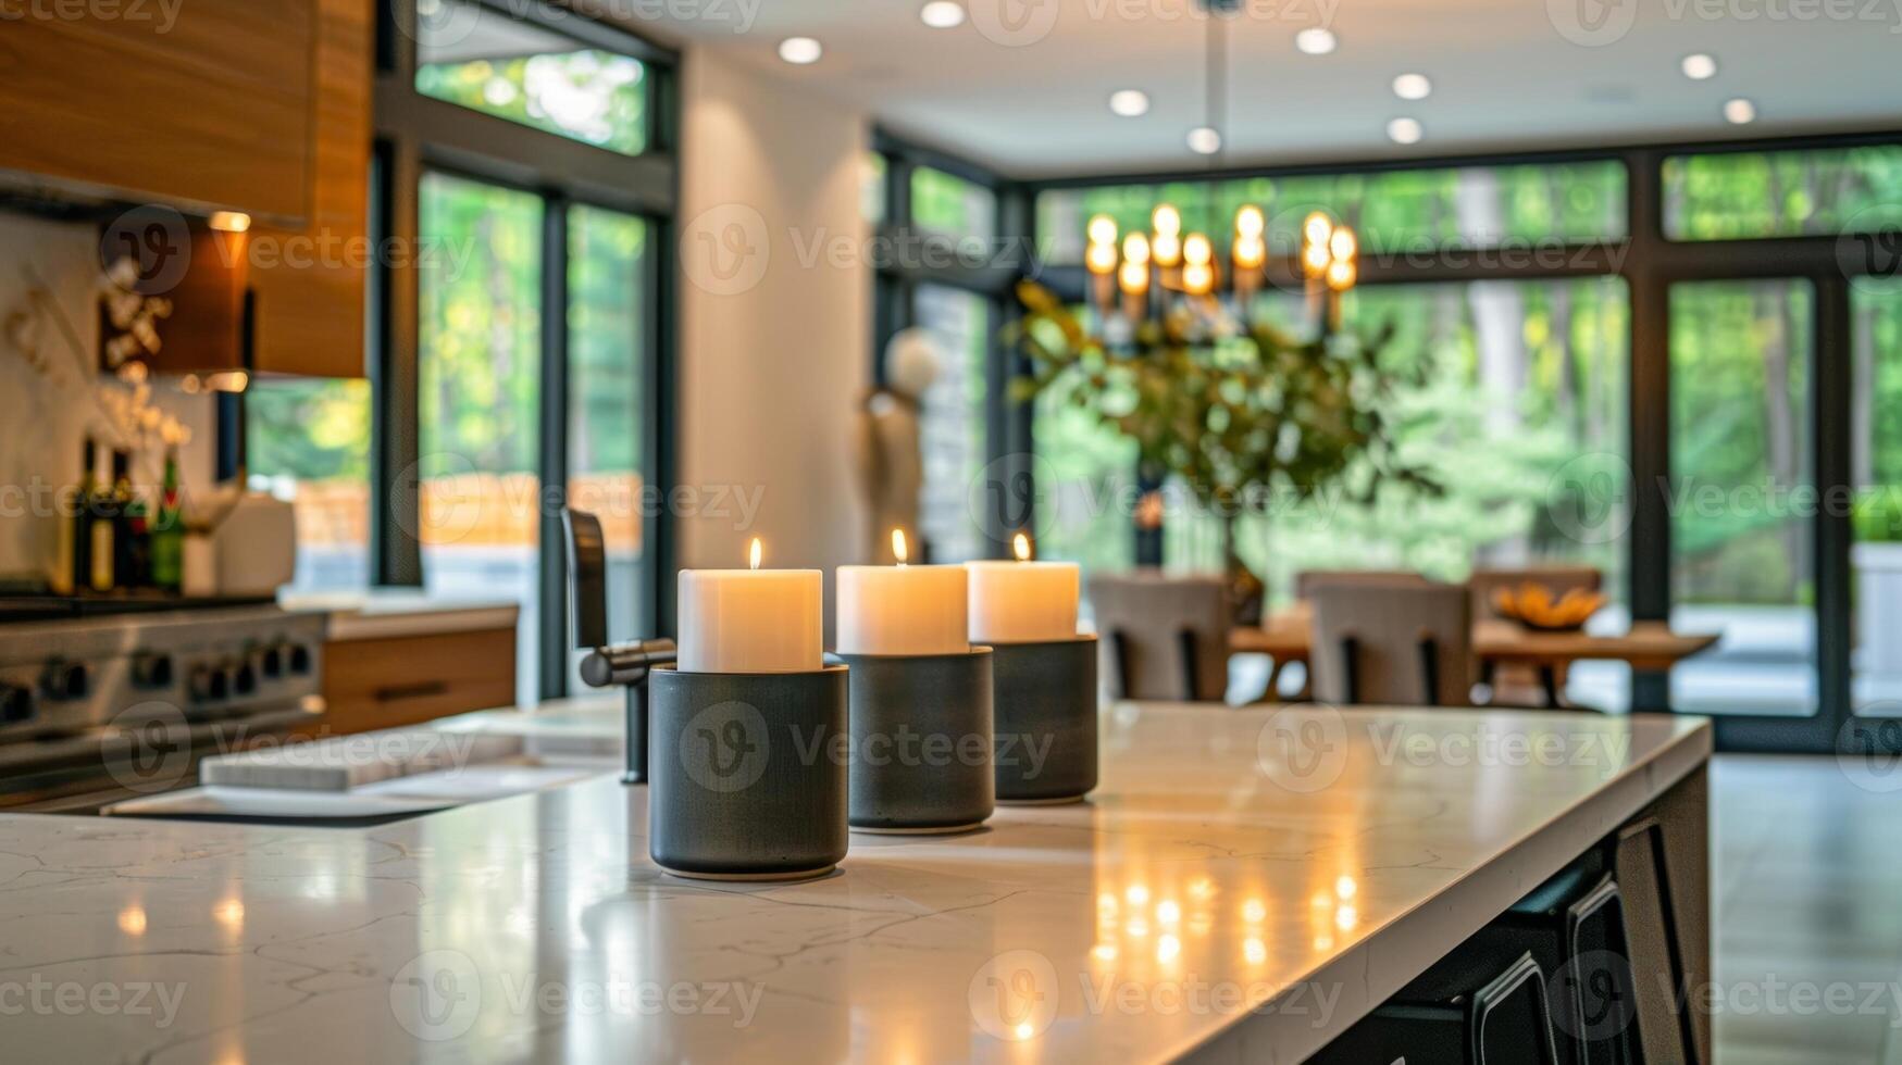
M 759 565 L 757 548 L 753 559 Z M 824 669 L 820 571 L 683 569 L 679 590 L 683 673 Z

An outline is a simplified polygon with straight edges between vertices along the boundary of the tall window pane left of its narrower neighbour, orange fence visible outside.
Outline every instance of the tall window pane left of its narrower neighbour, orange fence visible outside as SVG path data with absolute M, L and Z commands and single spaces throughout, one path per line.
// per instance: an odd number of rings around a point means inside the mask
M 422 177 L 422 576 L 432 593 L 521 607 L 517 688 L 538 692 L 542 200 Z

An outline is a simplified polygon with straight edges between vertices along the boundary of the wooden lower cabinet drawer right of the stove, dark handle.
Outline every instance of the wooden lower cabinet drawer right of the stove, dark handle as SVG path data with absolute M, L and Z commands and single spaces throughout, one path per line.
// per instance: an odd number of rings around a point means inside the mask
M 515 629 L 325 643 L 323 702 L 323 721 L 312 734 L 396 728 L 515 706 Z

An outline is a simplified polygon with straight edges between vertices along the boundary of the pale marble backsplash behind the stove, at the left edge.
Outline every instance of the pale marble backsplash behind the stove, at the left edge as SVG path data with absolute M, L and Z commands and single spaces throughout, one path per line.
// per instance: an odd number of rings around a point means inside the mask
M 99 230 L 0 213 L 0 578 L 44 578 L 59 567 L 53 489 L 80 477 L 86 434 L 131 443 L 114 403 L 131 390 L 95 373 L 99 352 Z M 108 394 L 118 394 L 108 396 Z M 190 430 L 179 458 L 186 493 L 211 483 L 213 401 L 169 380 L 150 401 Z M 141 455 L 139 483 L 156 483 L 162 455 Z

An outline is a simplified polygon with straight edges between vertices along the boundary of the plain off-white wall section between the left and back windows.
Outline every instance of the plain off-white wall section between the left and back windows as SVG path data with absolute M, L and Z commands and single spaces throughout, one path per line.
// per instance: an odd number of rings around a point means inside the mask
M 871 272 L 860 215 L 867 127 L 706 48 L 681 93 L 681 470 L 765 489 L 751 529 L 685 517 L 681 565 L 864 561 L 854 413 L 869 384 Z

